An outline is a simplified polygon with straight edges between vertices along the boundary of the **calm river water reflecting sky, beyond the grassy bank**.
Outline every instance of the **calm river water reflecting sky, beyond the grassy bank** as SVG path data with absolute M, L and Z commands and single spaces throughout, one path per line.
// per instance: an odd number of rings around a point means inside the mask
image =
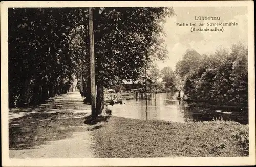
M 181 96 L 183 93 L 181 92 Z M 123 100 L 123 105 L 111 106 L 112 115 L 142 120 L 164 120 L 172 122 L 232 120 L 248 123 L 248 116 L 232 110 L 209 110 L 190 108 L 189 103 L 175 99 L 178 92 L 153 94 L 148 100 Z

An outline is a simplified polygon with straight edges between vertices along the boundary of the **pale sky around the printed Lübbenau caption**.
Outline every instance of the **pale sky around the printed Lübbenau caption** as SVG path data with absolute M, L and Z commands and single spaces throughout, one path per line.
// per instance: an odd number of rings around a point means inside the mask
M 177 16 L 167 18 L 164 26 L 167 34 L 168 58 L 165 63 L 157 61 L 160 69 L 170 66 L 175 70 L 177 61 L 182 59 L 183 54 L 189 48 L 195 49 L 200 54 L 214 53 L 220 48 L 229 49 L 238 41 L 245 44 L 248 42 L 247 7 L 176 7 L 174 10 Z M 216 16 L 221 20 L 195 21 L 195 16 Z M 176 26 L 177 22 L 188 24 L 196 22 L 197 25 L 200 22 L 205 24 L 207 22 L 237 22 L 238 26 L 223 26 L 224 32 L 191 32 L 190 25 L 179 27 Z

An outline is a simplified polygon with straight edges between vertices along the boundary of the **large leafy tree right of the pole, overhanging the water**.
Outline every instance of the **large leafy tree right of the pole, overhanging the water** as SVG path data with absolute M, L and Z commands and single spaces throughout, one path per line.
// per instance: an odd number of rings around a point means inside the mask
M 164 48 L 158 48 L 161 43 L 156 41 L 164 34 L 160 22 L 173 13 L 172 8 L 162 7 L 94 8 L 95 73 L 101 106 L 104 99 L 101 88 L 119 85 L 123 80 L 136 81 L 152 57 L 166 56 L 158 54 Z

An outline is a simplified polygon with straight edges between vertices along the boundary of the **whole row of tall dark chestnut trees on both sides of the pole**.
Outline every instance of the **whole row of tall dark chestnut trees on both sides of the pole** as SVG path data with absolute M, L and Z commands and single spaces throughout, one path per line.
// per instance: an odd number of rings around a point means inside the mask
M 94 8 L 97 106 L 103 86 L 137 80 L 153 59 L 163 60 L 163 24 L 172 8 Z M 72 89 L 82 75 L 90 90 L 88 8 L 11 8 L 9 107 L 37 104 Z M 87 93 L 88 94 L 88 93 Z

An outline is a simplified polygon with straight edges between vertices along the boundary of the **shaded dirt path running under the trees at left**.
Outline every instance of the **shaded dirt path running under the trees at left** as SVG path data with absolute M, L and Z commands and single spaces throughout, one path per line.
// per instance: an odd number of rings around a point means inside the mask
M 10 158 L 92 158 L 89 105 L 79 92 L 51 98 L 34 108 L 9 112 Z

